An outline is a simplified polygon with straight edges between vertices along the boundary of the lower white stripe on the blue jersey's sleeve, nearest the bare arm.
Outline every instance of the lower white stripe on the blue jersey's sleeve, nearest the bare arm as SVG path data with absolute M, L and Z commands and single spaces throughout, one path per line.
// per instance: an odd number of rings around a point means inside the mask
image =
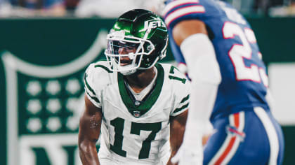
M 172 13 L 170 13 L 166 19 L 165 23 L 169 27 L 169 24 L 176 19 L 177 17 L 180 17 L 181 15 L 189 14 L 189 13 L 204 13 L 205 8 L 204 6 L 189 6 L 186 8 L 181 8 L 179 10 L 175 10 Z

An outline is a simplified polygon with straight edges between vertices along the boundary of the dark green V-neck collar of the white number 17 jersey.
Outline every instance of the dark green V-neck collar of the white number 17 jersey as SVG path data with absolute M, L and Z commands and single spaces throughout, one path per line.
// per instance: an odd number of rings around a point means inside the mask
M 126 85 L 124 84 L 124 78 L 121 73 L 118 73 L 118 85 L 119 85 L 119 92 L 124 102 L 126 108 L 129 110 L 129 113 L 135 117 L 140 117 L 147 113 L 150 108 L 155 104 L 157 99 L 159 98 L 159 94 L 161 94 L 163 83 L 164 83 L 164 69 L 160 64 L 155 65 L 158 75 L 156 79 L 155 89 L 152 91 L 152 94 L 142 101 L 140 105 L 136 106 L 136 103 L 133 102 L 131 96 L 128 93 L 128 89 L 126 89 Z

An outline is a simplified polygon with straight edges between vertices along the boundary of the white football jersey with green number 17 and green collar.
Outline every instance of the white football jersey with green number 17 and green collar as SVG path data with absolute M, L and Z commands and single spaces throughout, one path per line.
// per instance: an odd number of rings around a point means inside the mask
M 190 82 L 171 64 L 156 64 L 155 85 L 136 101 L 124 76 L 91 64 L 85 73 L 89 100 L 102 109 L 100 159 L 118 164 L 166 164 L 170 156 L 169 118 L 188 109 Z

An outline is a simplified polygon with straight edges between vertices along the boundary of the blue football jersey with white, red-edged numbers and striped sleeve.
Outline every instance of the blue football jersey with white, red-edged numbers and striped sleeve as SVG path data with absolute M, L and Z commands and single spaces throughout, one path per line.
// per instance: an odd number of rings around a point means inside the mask
M 269 109 L 265 100 L 268 76 L 256 37 L 235 8 L 214 0 L 168 1 L 163 17 L 170 36 L 173 27 L 183 20 L 202 20 L 206 24 L 222 76 L 211 120 L 256 106 Z M 176 61 L 185 63 L 172 37 L 170 44 Z

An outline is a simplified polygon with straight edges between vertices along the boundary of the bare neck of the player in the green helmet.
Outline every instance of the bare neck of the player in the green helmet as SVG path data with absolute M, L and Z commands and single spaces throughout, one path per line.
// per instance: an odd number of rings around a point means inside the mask
M 130 85 L 134 92 L 139 93 L 155 78 L 155 66 L 141 73 L 134 73 L 130 76 L 125 76 L 126 82 Z

